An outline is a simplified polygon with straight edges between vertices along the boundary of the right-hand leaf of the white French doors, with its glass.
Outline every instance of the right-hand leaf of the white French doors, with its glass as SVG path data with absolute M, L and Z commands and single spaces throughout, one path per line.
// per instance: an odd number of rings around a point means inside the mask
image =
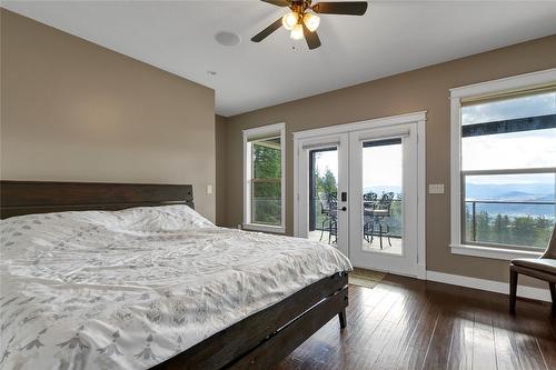
M 349 258 L 373 270 L 417 273 L 416 124 L 349 134 Z

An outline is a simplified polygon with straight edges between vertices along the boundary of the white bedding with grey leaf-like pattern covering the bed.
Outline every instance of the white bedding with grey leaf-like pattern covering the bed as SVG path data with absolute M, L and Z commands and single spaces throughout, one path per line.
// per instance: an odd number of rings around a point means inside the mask
M 337 249 L 187 206 L 1 221 L 0 368 L 145 369 L 350 270 Z

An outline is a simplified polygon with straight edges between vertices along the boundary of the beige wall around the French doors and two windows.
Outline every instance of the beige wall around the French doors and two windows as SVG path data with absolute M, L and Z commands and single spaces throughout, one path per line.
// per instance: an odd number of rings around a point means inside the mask
M 505 261 L 451 254 L 449 243 L 448 89 L 556 67 L 556 36 L 471 56 L 394 77 L 231 117 L 226 124 L 226 203 L 218 209 L 226 224 L 241 222 L 241 130 L 286 122 L 287 232 L 294 229 L 291 132 L 428 111 L 427 182 L 446 183 L 447 193 L 427 196 L 427 269 L 475 278 L 507 280 Z M 371 68 L 369 66 L 369 68 Z M 334 78 L 334 76 L 331 77 Z M 310 81 L 308 82 L 310 83 Z

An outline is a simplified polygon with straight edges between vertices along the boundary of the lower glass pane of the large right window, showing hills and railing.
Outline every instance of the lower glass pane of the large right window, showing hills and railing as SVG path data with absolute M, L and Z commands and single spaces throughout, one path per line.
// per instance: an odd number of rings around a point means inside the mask
M 465 243 L 545 249 L 556 219 L 556 174 L 465 176 Z

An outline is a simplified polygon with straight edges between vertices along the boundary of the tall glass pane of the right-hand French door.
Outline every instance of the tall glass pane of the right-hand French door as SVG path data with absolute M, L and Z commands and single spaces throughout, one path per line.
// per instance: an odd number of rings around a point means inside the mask
M 363 249 L 403 254 L 404 150 L 401 138 L 361 142 Z

